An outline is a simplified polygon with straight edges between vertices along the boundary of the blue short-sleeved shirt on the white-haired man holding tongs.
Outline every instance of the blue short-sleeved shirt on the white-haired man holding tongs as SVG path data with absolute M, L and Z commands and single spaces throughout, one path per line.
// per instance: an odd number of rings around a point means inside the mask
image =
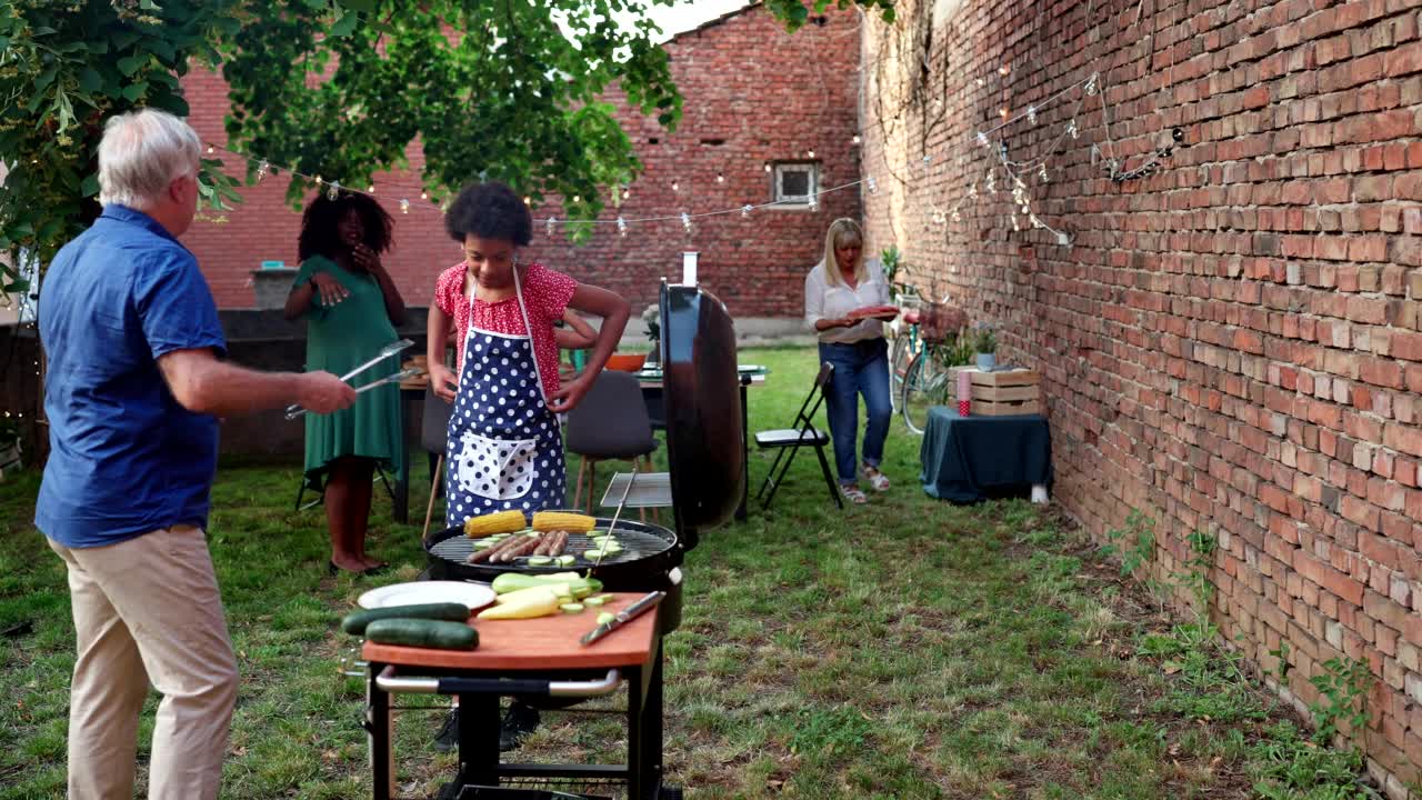
M 218 420 L 173 399 L 158 357 L 226 350 L 198 259 L 146 214 L 109 205 L 40 290 L 50 460 L 34 524 L 102 547 L 208 524 Z

